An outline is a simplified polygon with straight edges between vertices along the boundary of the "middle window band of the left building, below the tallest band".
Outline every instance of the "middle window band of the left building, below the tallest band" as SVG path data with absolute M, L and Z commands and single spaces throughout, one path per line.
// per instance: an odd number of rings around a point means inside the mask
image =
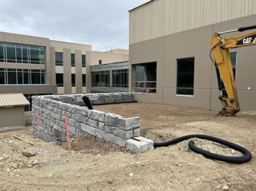
M 0 85 L 46 84 L 45 70 L 0 69 Z

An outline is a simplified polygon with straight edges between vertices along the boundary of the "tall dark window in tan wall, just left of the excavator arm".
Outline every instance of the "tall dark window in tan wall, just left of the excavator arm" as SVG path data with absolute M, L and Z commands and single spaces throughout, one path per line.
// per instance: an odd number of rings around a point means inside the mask
M 176 93 L 194 95 L 194 58 L 177 60 Z

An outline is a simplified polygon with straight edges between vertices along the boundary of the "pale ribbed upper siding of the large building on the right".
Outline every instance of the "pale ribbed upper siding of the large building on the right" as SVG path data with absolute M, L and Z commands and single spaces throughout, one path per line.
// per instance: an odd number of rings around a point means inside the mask
M 130 11 L 130 44 L 253 14 L 254 0 L 155 0 Z

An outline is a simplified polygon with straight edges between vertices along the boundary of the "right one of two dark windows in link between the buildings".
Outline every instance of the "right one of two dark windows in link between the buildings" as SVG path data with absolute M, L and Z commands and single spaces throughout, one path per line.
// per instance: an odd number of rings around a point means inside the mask
M 112 71 L 112 86 L 114 88 L 128 88 L 128 69 Z

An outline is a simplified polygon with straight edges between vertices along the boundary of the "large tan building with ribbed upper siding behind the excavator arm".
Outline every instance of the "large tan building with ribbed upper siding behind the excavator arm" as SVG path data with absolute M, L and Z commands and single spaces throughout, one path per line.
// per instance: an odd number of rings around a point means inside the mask
M 153 0 L 130 10 L 130 92 L 138 92 L 135 98 L 140 102 L 220 110 L 209 57 L 212 36 L 255 25 L 255 14 L 255 1 L 250 0 Z M 256 109 L 254 52 L 256 46 L 231 50 L 242 111 Z

